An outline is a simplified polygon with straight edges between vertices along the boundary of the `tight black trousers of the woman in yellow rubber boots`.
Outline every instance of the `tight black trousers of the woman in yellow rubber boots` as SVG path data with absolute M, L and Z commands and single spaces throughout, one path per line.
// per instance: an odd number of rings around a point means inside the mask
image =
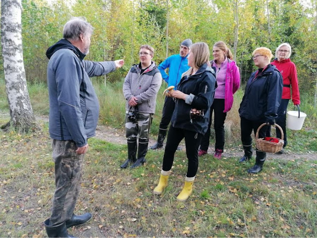
M 169 127 L 162 169 L 164 171 L 169 171 L 172 168 L 175 151 L 178 144 L 183 138 L 185 138 L 186 155 L 188 158 L 188 168 L 186 176 L 188 178 L 192 178 L 195 177 L 197 173 L 198 148 L 203 138 L 203 135 L 197 132 L 179 129 L 173 126 Z

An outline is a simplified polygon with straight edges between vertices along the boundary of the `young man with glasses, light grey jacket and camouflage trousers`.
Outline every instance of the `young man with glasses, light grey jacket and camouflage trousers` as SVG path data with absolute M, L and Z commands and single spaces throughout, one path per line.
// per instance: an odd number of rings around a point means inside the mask
M 120 166 L 122 169 L 129 164 L 130 168 L 136 168 L 146 162 L 152 115 L 155 113 L 156 99 L 162 83 L 159 69 L 152 61 L 153 56 L 154 48 L 149 45 L 141 46 L 140 63 L 132 66 L 123 83 L 128 158 Z

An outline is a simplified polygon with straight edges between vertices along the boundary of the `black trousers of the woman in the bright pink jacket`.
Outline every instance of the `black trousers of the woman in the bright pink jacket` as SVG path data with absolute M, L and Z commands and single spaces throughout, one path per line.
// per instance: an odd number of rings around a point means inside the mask
M 209 147 L 209 140 L 210 140 L 210 127 L 211 127 L 211 118 L 212 118 L 212 111 L 214 112 L 214 119 L 213 119 L 213 128 L 215 133 L 215 149 L 221 149 L 223 151 L 224 146 L 224 120 L 226 119 L 227 113 L 223 112 L 224 110 L 224 99 L 213 99 L 213 103 L 211 105 L 210 110 L 210 120 L 208 125 L 208 130 L 205 136 L 202 139 L 200 149 L 201 150 L 208 150 Z

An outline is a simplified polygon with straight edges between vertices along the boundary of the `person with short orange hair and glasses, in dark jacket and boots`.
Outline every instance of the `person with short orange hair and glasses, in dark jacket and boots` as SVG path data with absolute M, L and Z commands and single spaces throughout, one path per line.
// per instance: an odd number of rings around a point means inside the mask
M 270 64 L 273 57 L 271 50 L 265 47 L 256 48 L 252 55 L 258 70 L 251 74 L 239 108 L 241 141 L 244 149 L 244 156 L 240 162 L 249 160 L 252 156 L 252 131 L 256 134 L 263 123 L 275 124 L 283 90 L 282 75 L 274 65 Z M 265 130 L 266 127 L 261 128 L 259 138 L 265 137 Z M 256 154 L 256 163 L 248 169 L 248 173 L 258 173 L 262 170 L 266 152 L 257 150 Z

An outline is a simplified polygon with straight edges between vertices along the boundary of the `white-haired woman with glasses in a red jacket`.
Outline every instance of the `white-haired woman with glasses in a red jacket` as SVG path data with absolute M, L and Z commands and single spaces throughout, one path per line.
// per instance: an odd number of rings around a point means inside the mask
M 284 147 L 287 145 L 286 138 L 286 111 L 289 99 L 292 98 L 294 106 L 299 105 L 300 95 L 298 89 L 298 80 L 297 80 L 297 71 L 295 64 L 290 60 L 290 56 L 292 53 L 292 48 L 289 44 L 283 43 L 279 45 L 275 50 L 275 59 L 271 63 L 275 65 L 276 68 L 281 72 L 283 77 L 283 94 L 281 104 L 277 110 L 277 118 L 276 124 L 278 124 L 284 134 L 284 145 L 283 149 L 277 153 L 284 153 Z M 292 96 L 291 96 L 291 88 L 292 88 Z M 266 136 L 270 136 L 270 128 L 266 131 Z M 281 138 L 281 132 L 276 130 L 276 136 Z

